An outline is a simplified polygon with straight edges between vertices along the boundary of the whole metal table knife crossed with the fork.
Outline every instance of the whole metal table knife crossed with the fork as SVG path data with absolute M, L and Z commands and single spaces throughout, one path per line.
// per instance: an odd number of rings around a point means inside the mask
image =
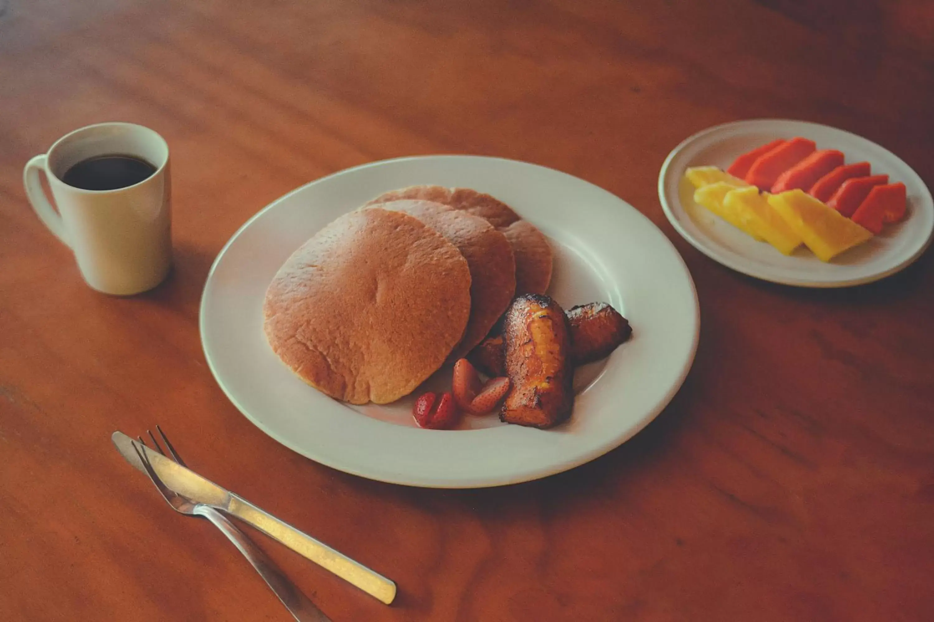
M 130 463 L 137 471 L 146 473 L 146 468 L 133 449 L 133 438 L 122 432 L 115 432 L 110 436 L 110 439 L 126 462 Z M 231 516 L 240 518 L 269 537 L 288 546 L 304 558 L 314 561 L 351 585 L 360 587 L 379 601 L 389 604 L 395 598 L 396 584 L 382 574 L 351 560 L 343 553 L 335 551 L 330 546 L 265 512 L 233 492 L 218 486 L 210 479 L 198 475 L 191 469 L 155 451 L 149 451 L 148 457 L 153 470 L 163 480 L 163 483 L 178 494 L 188 497 L 196 503 L 210 505 Z

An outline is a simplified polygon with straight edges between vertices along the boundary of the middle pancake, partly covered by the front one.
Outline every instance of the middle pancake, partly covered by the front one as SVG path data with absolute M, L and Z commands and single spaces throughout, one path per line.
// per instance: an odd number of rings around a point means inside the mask
M 483 218 L 441 203 L 392 200 L 380 203 L 379 207 L 415 216 L 457 246 L 467 260 L 471 276 L 470 319 L 463 338 L 447 360 L 463 358 L 487 337 L 516 293 L 516 262 L 509 241 Z

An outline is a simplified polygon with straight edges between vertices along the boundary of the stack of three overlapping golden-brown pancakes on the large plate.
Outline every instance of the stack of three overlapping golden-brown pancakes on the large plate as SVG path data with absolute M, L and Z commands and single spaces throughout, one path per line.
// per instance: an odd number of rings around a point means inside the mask
M 289 257 L 266 292 L 266 338 L 319 391 L 386 404 L 473 349 L 514 296 L 544 293 L 551 264 L 542 232 L 488 194 L 393 190 Z

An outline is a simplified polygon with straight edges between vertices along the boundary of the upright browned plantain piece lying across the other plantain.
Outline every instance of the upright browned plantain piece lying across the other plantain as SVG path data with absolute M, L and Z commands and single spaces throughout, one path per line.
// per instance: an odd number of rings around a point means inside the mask
M 503 422 L 549 428 L 571 416 L 571 331 L 560 305 L 526 294 L 513 300 L 503 325 L 506 373 L 513 390 L 502 405 Z

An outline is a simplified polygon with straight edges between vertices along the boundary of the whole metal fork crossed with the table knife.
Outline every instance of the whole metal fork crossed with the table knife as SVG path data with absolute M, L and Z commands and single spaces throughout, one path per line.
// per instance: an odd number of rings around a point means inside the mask
M 168 436 L 165 435 L 162 428 L 157 425 L 156 430 L 158 430 L 159 434 L 163 437 L 163 442 L 172 455 L 172 460 L 185 466 L 185 463 L 178 456 L 175 448 L 172 447 L 172 443 L 169 442 Z M 149 434 L 149 438 L 152 439 L 152 444 L 155 446 L 155 449 L 149 449 L 142 436 L 137 436 L 140 446 L 137 446 L 134 442 L 133 449 L 136 451 L 136 455 L 139 456 L 140 462 L 146 467 L 149 479 L 152 480 L 152 483 L 155 484 L 156 488 L 162 493 L 165 501 L 180 514 L 204 517 L 214 523 L 214 526 L 226 535 L 227 539 L 233 542 L 233 545 L 243 553 L 243 556 L 247 558 L 251 564 L 253 564 L 253 568 L 256 569 L 256 572 L 262 576 L 266 585 L 273 590 L 279 601 L 282 601 L 282 604 L 286 606 L 286 609 L 289 610 L 290 614 L 293 615 L 296 620 L 299 622 L 331 622 L 331 618 L 324 615 L 314 602 L 309 601 L 302 593 L 302 590 L 296 587 L 295 584 L 290 581 L 289 577 L 279 570 L 276 563 L 270 560 L 259 546 L 253 544 L 253 541 L 248 538 L 247 534 L 240 531 L 229 518 L 222 515 L 213 507 L 204 504 L 196 504 L 191 501 L 191 499 L 178 494 L 176 491 L 171 491 L 165 486 L 163 480 L 160 479 L 155 469 L 152 468 L 152 464 L 149 463 L 147 451 L 155 450 L 163 456 L 165 452 L 159 445 L 159 441 L 156 440 L 156 437 L 152 435 L 152 432 L 149 430 L 146 432 Z

